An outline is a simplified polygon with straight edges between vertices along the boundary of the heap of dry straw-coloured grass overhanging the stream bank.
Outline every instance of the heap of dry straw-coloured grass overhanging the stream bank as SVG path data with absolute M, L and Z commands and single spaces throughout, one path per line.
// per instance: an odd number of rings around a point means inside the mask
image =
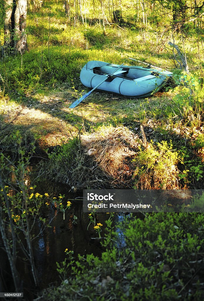
M 82 135 L 81 144 L 85 155 L 93 156 L 106 175 L 116 182 L 124 182 L 132 174 L 127 159 L 138 152 L 142 141 L 124 126 L 109 126 L 100 132 Z

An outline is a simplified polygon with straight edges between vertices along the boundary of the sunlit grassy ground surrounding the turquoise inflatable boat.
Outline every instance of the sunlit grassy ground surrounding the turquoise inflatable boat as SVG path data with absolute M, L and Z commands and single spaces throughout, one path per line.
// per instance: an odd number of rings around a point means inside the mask
M 23 54 L 22 60 L 20 56 L 7 57 L 1 66 L 0 144 L 3 149 L 15 149 L 10 134 L 16 130 L 23 135 L 26 148 L 37 135 L 39 150 L 43 151 L 45 148 L 53 150 L 58 145 L 63 148 L 70 139 L 97 133 L 101 126 L 110 124 L 126 126 L 141 138 L 142 125 L 153 152 L 157 152 L 157 143 L 167 141 L 170 145 L 172 141 L 177 152 L 180 146 L 186 147 L 190 156 L 188 161 L 194 162 L 195 154 L 199 169 L 193 171 L 190 166 L 192 176 L 189 175 L 188 185 L 195 185 L 193 174 L 197 182 L 201 181 L 204 92 L 200 88 L 200 68 L 204 56 L 202 52 L 196 56 L 198 43 L 202 49 L 202 42 L 196 42 L 196 31 L 186 36 L 183 43 L 181 33 L 172 35 L 169 23 L 163 24 L 161 20 L 160 26 L 149 22 L 145 28 L 141 23 L 134 26 L 131 21 L 132 27 L 119 28 L 112 24 L 106 25 L 104 31 L 100 20 L 95 19 L 90 25 L 88 19 L 87 16 L 85 26 L 79 22 L 72 26 L 72 19 L 65 17 L 58 2 L 45 2 L 40 11 L 29 12 L 29 52 Z M 168 25 L 165 30 L 164 25 Z M 191 71 L 188 77 L 181 70 L 173 71 L 175 79 L 183 76 L 183 86 L 146 99 L 128 99 L 95 91 L 81 105 L 69 109 L 73 101 L 88 92 L 79 80 L 81 68 L 87 61 L 130 65 L 134 63 L 128 57 L 136 57 L 173 70 L 178 63 L 167 44 L 173 38 L 175 44 L 185 50 Z M 190 88 L 186 89 L 186 85 Z M 195 152 L 190 154 L 193 145 L 196 145 Z M 145 149 L 141 152 L 143 158 Z M 181 174 L 185 164 L 193 164 L 185 163 L 185 160 L 176 163 Z M 154 187 L 152 185 L 150 187 Z

